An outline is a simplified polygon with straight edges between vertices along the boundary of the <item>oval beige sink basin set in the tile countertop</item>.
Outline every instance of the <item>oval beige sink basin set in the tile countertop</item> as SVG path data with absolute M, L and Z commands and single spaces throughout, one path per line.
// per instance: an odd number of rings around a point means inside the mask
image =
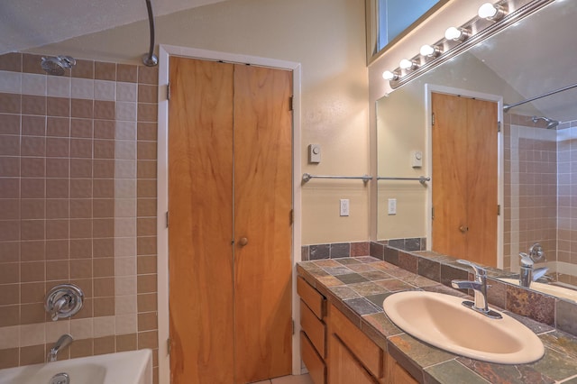
M 501 364 L 523 364 L 543 356 L 543 343 L 525 325 L 506 314 L 490 318 L 462 303 L 462 297 L 406 291 L 385 298 L 383 308 L 407 334 L 448 352 Z

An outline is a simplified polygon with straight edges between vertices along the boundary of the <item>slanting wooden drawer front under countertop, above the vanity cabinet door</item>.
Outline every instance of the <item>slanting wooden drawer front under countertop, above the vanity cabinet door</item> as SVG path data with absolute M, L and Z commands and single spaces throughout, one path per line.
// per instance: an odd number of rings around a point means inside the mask
M 382 377 L 383 354 L 380 347 L 373 343 L 362 331 L 346 318 L 334 306 L 329 306 L 329 331 L 336 334 L 344 345 L 353 352 L 354 356 L 373 376 Z

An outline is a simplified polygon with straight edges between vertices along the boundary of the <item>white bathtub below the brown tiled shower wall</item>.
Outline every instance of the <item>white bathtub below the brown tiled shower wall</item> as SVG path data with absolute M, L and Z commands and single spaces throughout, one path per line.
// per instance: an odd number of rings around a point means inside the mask
M 101 354 L 0 370 L 0 384 L 49 384 L 58 373 L 70 384 L 151 384 L 152 352 L 140 350 Z

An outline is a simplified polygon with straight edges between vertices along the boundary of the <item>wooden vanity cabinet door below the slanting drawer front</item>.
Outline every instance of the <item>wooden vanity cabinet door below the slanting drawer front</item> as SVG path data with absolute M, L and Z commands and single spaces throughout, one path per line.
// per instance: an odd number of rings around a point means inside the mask
M 329 340 L 328 384 L 377 384 L 353 353 L 334 334 Z

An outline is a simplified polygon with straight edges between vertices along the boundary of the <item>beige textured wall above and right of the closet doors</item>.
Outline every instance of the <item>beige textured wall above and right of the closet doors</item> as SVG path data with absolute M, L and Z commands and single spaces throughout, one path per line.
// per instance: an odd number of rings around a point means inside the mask
M 354 0 L 235 0 L 156 18 L 157 44 L 296 61 L 302 65 L 302 169 L 328 175 L 369 173 L 368 78 L 364 4 Z M 133 23 L 52 44 L 36 52 L 138 62 L 148 25 Z M 307 165 L 307 145 L 322 162 Z M 312 180 L 302 191 L 302 242 L 369 237 L 369 192 L 362 181 Z M 351 215 L 339 217 L 339 198 Z

